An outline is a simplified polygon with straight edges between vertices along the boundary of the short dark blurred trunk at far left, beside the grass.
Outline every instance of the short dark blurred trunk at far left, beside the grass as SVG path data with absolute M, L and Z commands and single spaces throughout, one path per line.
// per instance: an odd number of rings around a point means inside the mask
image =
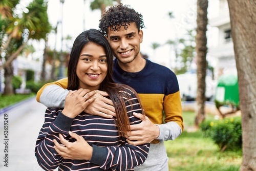
M 13 95 L 12 77 L 13 77 L 13 67 L 12 65 L 4 68 L 5 71 L 5 89 L 4 95 Z

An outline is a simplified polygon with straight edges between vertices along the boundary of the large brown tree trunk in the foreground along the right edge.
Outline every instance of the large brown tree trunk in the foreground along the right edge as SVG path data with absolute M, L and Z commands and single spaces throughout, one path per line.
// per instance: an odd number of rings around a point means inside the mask
M 242 113 L 240 170 L 256 170 L 256 2 L 228 0 L 228 5 Z

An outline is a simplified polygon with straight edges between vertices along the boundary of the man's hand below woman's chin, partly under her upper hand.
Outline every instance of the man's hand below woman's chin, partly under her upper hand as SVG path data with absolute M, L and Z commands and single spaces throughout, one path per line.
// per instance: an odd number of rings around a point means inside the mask
M 97 90 L 94 96 L 96 96 L 96 99 L 87 106 L 84 112 L 104 118 L 113 118 L 113 116 L 116 116 L 113 102 L 106 98 L 109 96 L 106 92 Z

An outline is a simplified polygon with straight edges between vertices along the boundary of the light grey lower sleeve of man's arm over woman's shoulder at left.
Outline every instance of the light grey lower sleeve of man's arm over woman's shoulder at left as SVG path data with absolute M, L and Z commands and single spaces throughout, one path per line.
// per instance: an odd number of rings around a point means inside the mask
M 48 108 L 64 108 L 65 99 L 69 91 L 57 85 L 49 85 L 40 96 L 40 103 Z

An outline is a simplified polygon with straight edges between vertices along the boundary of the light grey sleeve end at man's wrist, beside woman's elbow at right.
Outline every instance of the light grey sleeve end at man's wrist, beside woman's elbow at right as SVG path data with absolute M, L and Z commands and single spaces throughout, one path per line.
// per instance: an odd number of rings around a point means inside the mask
M 167 122 L 165 124 L 157 124 L 159 126 L 159 141 L 175 140 L 182 133 L 181 127 L 176 122 Z

